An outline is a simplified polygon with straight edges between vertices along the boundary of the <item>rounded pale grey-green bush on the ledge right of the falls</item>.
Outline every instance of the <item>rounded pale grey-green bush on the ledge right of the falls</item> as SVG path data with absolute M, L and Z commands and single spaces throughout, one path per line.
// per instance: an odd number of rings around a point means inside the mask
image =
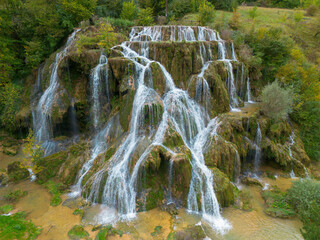
M 293 106 L 292 89 L 281 88 L 278 81 L 264 87 L 260 96 L 263 113 L 275 121 L 284 119 Z

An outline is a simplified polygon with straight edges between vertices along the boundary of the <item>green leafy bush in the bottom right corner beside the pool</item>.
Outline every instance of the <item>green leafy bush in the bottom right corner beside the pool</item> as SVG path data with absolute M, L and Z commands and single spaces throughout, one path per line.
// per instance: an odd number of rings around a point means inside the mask
M 295 181 L 288 190 L 288 198 L 303 222 L 303 237 L 307 240 L 319 239 L 320 182 L 311 179 Z

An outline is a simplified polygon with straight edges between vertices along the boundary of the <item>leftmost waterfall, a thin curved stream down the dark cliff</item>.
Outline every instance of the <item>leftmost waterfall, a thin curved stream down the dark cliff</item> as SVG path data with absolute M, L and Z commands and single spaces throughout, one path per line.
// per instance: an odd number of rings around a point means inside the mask
M 58 52 L 55 61 L 52 64 L 50 83 L 48 88 L 43 92 L 40 100 L 33 110 L 33 126 L 37 142 L 41 142 L 45 156 L 50 155 L 58 150 L 58 145 L 52 140 L 51 108 L 55 100 L 55 94 L 59 88 L 58 68 L 60 62 L 68 54 L 70 46 L 75 40 L 75 36 L 80 29 L 75 30 L 68 38 L 66 45 L 61 52 Z M 39 75 L 38 75 L 39 79 Z M 38 80 L 37 82 L 40 82 Z

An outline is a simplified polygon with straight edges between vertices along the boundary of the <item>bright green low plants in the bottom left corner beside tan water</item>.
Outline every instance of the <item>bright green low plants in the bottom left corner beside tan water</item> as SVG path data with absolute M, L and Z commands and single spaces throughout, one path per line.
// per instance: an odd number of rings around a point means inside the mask
M 0 215 L 1 239 L 27 240 L 36 239 L 41 229 L 30 220 L 25 220 L 26 213 L 18 212 L 10 216 Z

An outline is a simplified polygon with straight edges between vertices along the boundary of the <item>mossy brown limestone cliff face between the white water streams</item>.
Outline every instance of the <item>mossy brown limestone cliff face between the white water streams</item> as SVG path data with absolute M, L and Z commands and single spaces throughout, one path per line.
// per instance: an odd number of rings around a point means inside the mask
M 164 98 L 168 93 L 163 69 L 157 62 L 161 63 L 172 76 L 177 88 L 186 91 L 189 98 L 199 104 L 201 109 L 207 111 L 206 124 L 209 118 L 218 118 L 217 134 L 204 144 L 203 157 L 206 166 L 213 174 L 214 189 L 220 205 L 233 204 L 235 188 L 231 182 L 237 182 L 241 173 L 253 170 L 253 156 L 257 150 L 254 142 L 258 124 L 262 134 L 260 146 L 262 166 L 277 166 L 287 172 L 293 169 L 297 175 L 304 175 L 303 164 L 308 165 L 310 160 L 297 134 L 296 144 L 290 148 L 292 151 L 290 156 L 289 136 L 294 129 L 287 122 L 273 124 L 270 119 L 260 115 L 257 104 L 254 105 L 255 109 L 248 113 L 229 112 L 232 101 L 237 101 L 238 107 L 246 101 L 246 79 L 249 74 L 244 64 L 234 60 L 232 42 L 223 42 L 226 49 L 224 58 L 231 59 L 230 70 L 230 66 L 226 67 L 226 63 L 229 62 L 221 60 L 218 40 L 174 41 L 173 36 L 178 39 L 179 35 L 170 35 L 169 27 L 163 29 L 162 40 L 150 41 L 148 45 L 148 56 L 151 62 L 148 70 L 144 72 L 144 85 L 152 88 L 153 97 L 142 107 L 141 117 L 138 119 L 138 144 L 130 154 L 128 165 L 129 173 L 132 174 L 141 155 L 146 153 L 145 160 L 137 171 L 139 181 L 135 185 L 136 208 L 139 211 L 149 210 L 168 201 L 169 197 L 175 199 L 177 204 L 187 206 L 189 185 L 193 174 L 194 156 L 189 145 L 195 140 L 186 144 L 187 141 L 176 130 L 174 121 L 168 121 L 162 144 L 152 145 L 151 139 L 166 111 Z M 83 29 L 81 34 L 94 36 L 96 31 L 97 29 L 91 26 Z M 193 27 L 193 31 L 199 34 L 197 27 Z M 120 34 L 117 37 L 119 43 L 125 40 Z M 94 131 L 100 130 L 99 128 L 92 130 L 93 94 L 91 89 L 93 69 L 99 64 L 102 53 L 96 43 L 84 47 L 81 45 L 79 49 L 79 41 L 80 39 L 76 39 L 58 67 L 60 81 L 51 110 L 51 123 L 55 137 L 61 135 L 71 137 L 70 112 L 74 109 L 81 140 L 38 163 L 43 168 L 43 171 L 38 173 L 38 179 L 41 181 L 57 176 L 66 185 L 74 184 L 79 178 L 79 170 L 90 158 L 91 146 L 88 140 L 92 139 Z M 135 41 L 130 48 L 139 54 L 144 54 L 141 52 L 143 44 L 145 42 Z M 133 105 L 139 87 L 137 68 L 133 61 L 123 56 L 120 46 L 103 54 L 107 56 L 107 63 L 100 71 L 100 79 L 103 79 L 100 91 L 103 94 L 98 96 L 101 105 L 99 123 L 102 128 L 110 119 L 113 119 L 113 125 L 112 131 L 104 139 L 108 143 L 108 149 L 98 154 L 82 181 L 83 196 L 89 200 L 94 198 L 98 202 L 102 201 L 104 184 L 109 176 L 108 171 L 116 161 L 115 153 L 132 130 Z M 39 76 L 41 89 L 48 87 L 54 56 L 55 54 L 44 63 L 40 75 L 35 73 L 33 79 L 28 81 L 26 92 L 37 84 Z M 137 60 L 138 63 L 139 61 L 142 62 L 141 59 Z M 207 68 L 203 68 L 204 62 L 208 63 Z M 230 83 L 231 73 L 234 86 Z M 204 82 L 202 78 L 206 81 Z M 204 89 L 207 98 L 203 97 Z M 231 91 L 233 91 L 232 95 Z M 31 103 L 39 98 L 37 93 L 29 96 Z M 19 121 L 25 127 L 30 126 L 32 122 L 31 103 L 29 104 L 31 107 L 27 107 L 28 109 L 19 115 Z M 188 116 L 188 113 L 183 115 L 181 121 L 187 122 Z M 188 134 L 192 136 L 195 127 L 192 125 L 187 127 Z M 102 174 L 97 175 L 100 172 Z M 91 195 L 93 188 L 96 188 L 95 196 Z M 200 202 L 200 199 L 198 201 Z

